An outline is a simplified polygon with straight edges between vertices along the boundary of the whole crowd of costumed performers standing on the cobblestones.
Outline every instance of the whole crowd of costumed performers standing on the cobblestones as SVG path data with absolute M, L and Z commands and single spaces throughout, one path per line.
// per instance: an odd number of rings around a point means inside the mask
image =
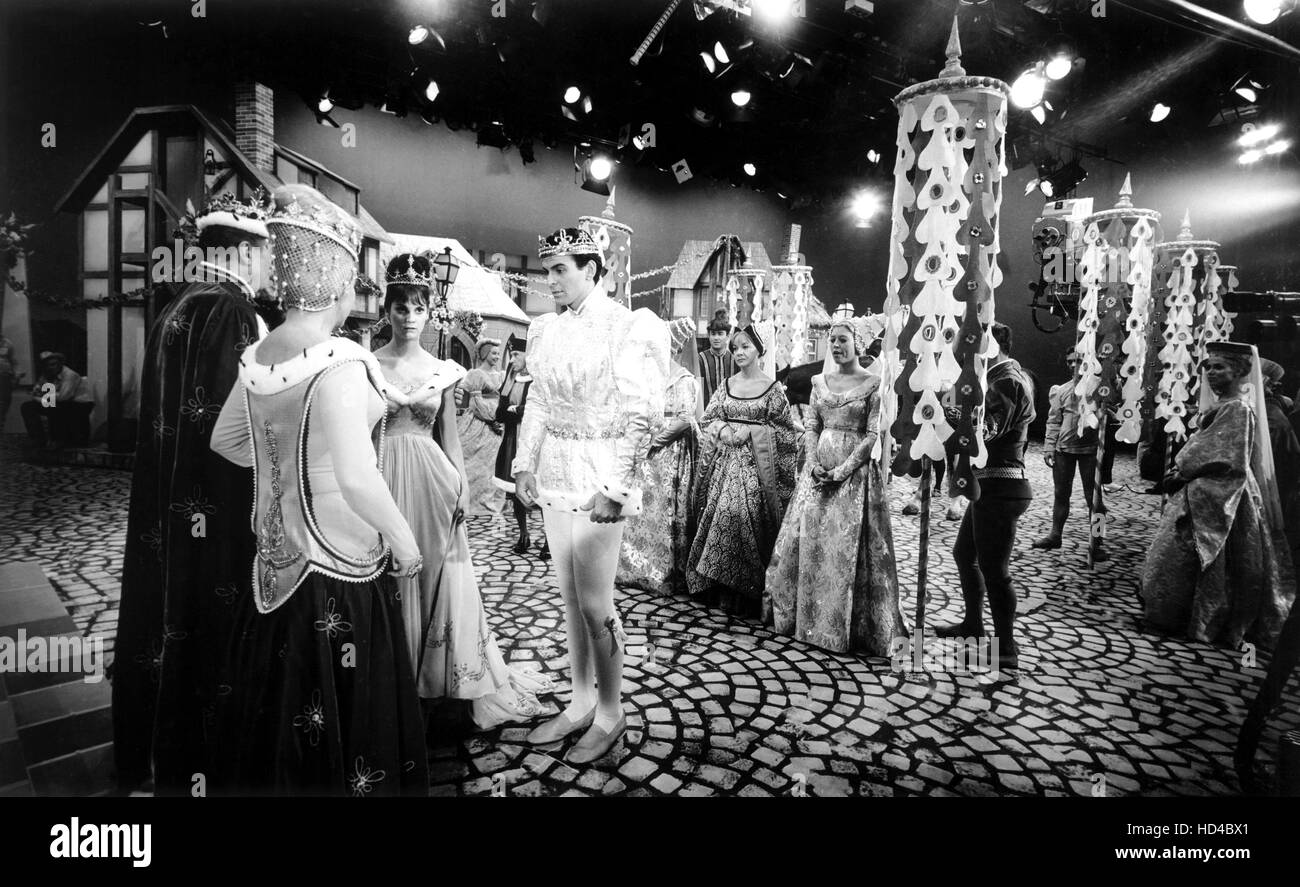
M 190 793 L 202 774 L 208 793 L 422 795 L 430 701 L 468 701 L 484 728 L 540 719 L 551 684 L 506 662 L 471 559 L 465 518 L 499 514 L 502 490 L 521 554 L 541 509 L 538 557 L 564 603 L 572 693 L 528 741 L 572 736 L 571 763 L 627 728 L 618 585 L 693 596 L 835 653 L 888 657 L 910 633 L 870 323 L 831 326 L 797 408 L 763 372 L 771 343 L 753 326 L 719 315 L 697 352 L 693 320 L 611 299 L 598 245 L 566 228 L 540 238 L 556 311 L 504 343 L 504 373 L 491 339 L 467 372 L 420 345 L 439 298 L 421 256 L 387 267 L 386 345 L 334 334 L 360 234 L 317 191 L 226 200 L 199 229 L 200 247 L 234 250 L 148 339 L 113 666 L 124 788 Z M 936 633 L 996 637 L 998 666 L 1015 669 L 1034 386 L 1010 330 L 991 334 L 980 496 L 950 505 L 965 613 Z M 1200 425 L 1165 480 L 1143 570 L 1154 628 L 1265 646 L 1282 629 L 1296 477 L 1278 484 L 1258 424 L 1261 365 L 1247 346 L 1210 346 Z M 1057 437 L 1071 397 L 1053 393 Z

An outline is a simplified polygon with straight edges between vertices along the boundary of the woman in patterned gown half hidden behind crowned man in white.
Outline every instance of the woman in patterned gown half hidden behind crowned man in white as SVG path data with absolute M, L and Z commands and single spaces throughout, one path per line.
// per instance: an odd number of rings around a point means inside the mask
M 642 466 L 642 511 L 623 533 L 616 583 L 662 594 L 686 592 L 686 562 L 694 522 L 690 514 L 699 451 L 699 354 L 696 321 L 668 324 L 672 365 L 664 389 L 663 421 Z

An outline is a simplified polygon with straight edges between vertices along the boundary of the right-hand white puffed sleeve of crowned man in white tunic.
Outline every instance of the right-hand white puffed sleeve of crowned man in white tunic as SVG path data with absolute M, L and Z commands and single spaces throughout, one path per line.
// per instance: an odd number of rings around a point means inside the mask
M 650 434 L 663 415 L 668 328 L 653 312 L 638 308 L 632 312 L 623 341 L 614 347 L 614 384 L 624 432 L 615 447 L 615 475 L 601 480 L 601 492 L 627 505 L 637 489 L 637 468 L 649 449 Z

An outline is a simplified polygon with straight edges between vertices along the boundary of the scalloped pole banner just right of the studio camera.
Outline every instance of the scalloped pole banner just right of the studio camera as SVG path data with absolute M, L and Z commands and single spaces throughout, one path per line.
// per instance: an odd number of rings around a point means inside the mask
M 1074 391 L 1080 425 L 1098 429 L 1102 440 L 1113 412 L 1121 423 L 1118 440 L 1136 444 L 1141 437 L 1153 245 L 1158 237 L 1160 213 L 1134 207 L 1131 176 L 1124 176 L 1113 209 L 1084 221 Z

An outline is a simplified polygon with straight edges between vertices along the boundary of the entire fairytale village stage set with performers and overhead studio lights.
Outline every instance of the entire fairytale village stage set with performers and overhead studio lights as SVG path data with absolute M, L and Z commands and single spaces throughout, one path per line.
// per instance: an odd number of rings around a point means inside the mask
M 0 796 L 1300 793 L 1295 5 L 14 4 Z

